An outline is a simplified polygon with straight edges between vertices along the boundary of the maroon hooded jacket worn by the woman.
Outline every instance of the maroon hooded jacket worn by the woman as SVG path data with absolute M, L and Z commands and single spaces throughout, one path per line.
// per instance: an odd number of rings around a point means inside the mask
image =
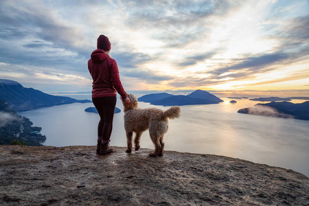
M 93 98 L 115 96 L 116 91 L 122 98 L 126 98 L 117 63 L 104 50 L 96 49 L 92 52 L 91 59 L 88 60 L 88 69 L 93 79 Z

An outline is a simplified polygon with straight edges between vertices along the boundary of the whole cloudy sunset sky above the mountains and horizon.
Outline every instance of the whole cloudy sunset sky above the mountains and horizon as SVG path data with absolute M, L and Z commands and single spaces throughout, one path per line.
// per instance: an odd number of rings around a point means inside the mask
M 111 41 L 124 88 L 309 91 L 309 1 L 0 1 L 0 78 L 91 91 Z

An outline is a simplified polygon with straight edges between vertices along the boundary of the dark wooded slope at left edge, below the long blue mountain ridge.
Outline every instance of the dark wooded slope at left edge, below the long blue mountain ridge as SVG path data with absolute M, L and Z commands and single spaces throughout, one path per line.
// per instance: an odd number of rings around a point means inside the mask
M 21 117 L 4 100 L 0 100 L 0 144 L 41 146 L 46 137 L 40 134 L 41 127 L 32 124 L 30 119 Z

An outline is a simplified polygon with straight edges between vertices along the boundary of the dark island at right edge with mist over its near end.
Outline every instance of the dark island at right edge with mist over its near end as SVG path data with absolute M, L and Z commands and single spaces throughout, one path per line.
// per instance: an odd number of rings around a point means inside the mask
M 238 113 L 309 120 L 309 101 L 301 104 L 292 102 L 255 104 L 254 107 L 240 109 Z

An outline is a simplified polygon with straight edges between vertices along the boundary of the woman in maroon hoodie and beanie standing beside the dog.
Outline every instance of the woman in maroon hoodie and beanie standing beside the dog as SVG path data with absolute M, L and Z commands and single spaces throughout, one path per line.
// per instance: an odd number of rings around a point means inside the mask
M 130 99 L 122 87 L 117 63 L 109 56 L 111 43 L 107 36 L 99 36 L 97 48 L 92 52 L 91 58 L 88 60 L 88 69 L 93 78 L 92 101 L 100 115 L 97 153 L 106 155 L 113 152 L 108 147 L 108 143 L 113 130 L 117 92 L 125 100 L 126 104 L 130 104 Z

